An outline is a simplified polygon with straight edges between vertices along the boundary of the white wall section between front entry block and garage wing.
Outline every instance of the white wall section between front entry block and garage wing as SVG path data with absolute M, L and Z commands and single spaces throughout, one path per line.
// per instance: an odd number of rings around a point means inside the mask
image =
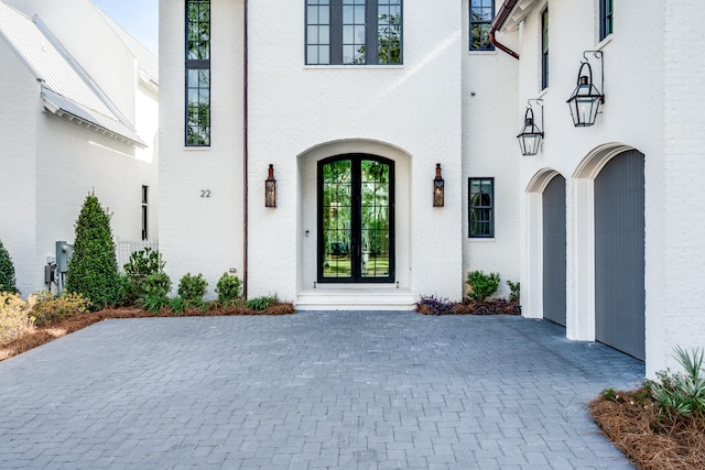
M 499 9 L 500 2 L 496 7 Z M 469 52 L 467 1 L 463 2 L 463 276 L 470 271 L 498 273 L 498 296 L 508 296 L 507 281 L 520 280 L 519 160 L 516 140 L 519 62 L 497 50 Z M 498 34 L 500 41 L 517 42 Z M 509 45 L 509 44 L 508 44 Z M 512 44 L 513 46 L 513 44 Z M 522 114 L 523 116 L 523 114 Z M 468 238 L 468 178 L 495 178 L 495 237 Z

